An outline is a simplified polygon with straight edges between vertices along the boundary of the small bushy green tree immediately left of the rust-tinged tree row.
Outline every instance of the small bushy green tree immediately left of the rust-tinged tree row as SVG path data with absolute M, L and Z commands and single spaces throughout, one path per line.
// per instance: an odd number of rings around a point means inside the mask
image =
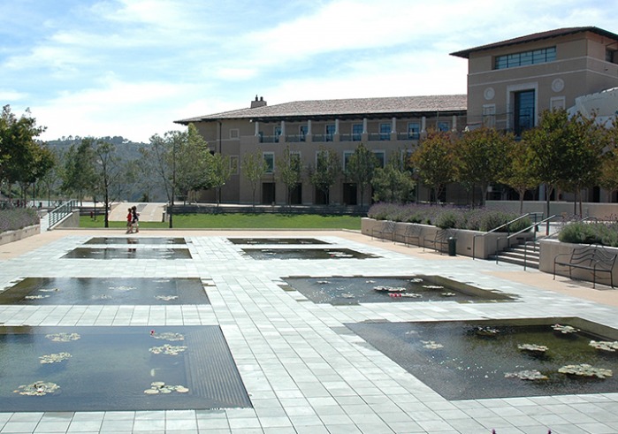
M 401 158 L 393 155 L 384 168 L 373 173 L 371 186 L 375 202 L 408 202 L 414 192 L 415 181 L 410 171 L 401 164 Z

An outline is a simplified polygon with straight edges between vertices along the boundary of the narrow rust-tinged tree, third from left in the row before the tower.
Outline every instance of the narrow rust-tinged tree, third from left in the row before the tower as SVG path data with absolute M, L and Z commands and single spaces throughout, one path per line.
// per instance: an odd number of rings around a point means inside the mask
M 515 141 L 508 149 L 507 168 L 500 182 L 513 188 L 519 194 L 519 212 L 523 214 L 523 195 L 538 186 L 534 154 L 525 141 Z

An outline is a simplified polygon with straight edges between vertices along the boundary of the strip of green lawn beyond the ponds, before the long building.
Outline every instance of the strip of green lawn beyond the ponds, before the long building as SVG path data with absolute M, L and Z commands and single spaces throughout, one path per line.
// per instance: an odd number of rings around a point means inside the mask
M 361 217 L 293 214 L 179 214 L 173 217 L 176 229 L 353 229 L 361 230 Z M 96 221 L 80 217 L 80 227 L 103 227 L 103 217 Z M 125 222 L 110 222 L 111 228 L 126 227 Z M 163 229 L 167 222 L 140 222 L 144 229 Z

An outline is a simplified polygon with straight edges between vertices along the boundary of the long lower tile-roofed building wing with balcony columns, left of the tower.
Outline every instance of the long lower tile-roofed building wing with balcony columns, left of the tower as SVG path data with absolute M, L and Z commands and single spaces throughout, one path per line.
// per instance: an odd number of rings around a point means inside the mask
M 256 202 L 284 204 L 287 191 L 278 182 L 277 162 L 286 148 L 301 157 L 305 168 L 315 166 L 321 149 L 332 148 L 345 169 L 348 156 L 362 142 L 384 165 L 393 153 L 399 157 L 408 155 L 430 128 L 461 132 L 466 126 L 466 95 L 296 101 L 271 106 L 256 96 L 248 109 L 176 122 L 194 124 L 211 149 L 231 157 L 233 176 L 222 188 L 222 202 L 253 201 L 250 183 L 240 174 L 240 161 L 242 156 L 258 149 L 269 171 L 262 180 Z M 200 199 L 212 201 L 212 194 L 203 192 Z M 330 202 L 356 205 L 361 203 L 359 194 L 355 184 L 341 175 L 331 188 Z M 370 192 L 365 195 L 362 203 L 367 204 Z M 325 198 L 309 184 L 305 173 L 290 202 L 324 204 Z

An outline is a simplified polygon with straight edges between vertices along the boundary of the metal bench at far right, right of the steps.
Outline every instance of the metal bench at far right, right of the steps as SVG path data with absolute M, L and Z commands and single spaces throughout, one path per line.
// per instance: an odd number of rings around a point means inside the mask
M 592 271 L 592 288 L 597 285 L 598 273 L 608 273 L 613 288 L 613 270 L 617 256 L 601 246 L 575 247 L 571 253 L 561 253 L 553 258 L 553 279 L 556 278 L 556 265 L 560 265 L 568 267 L 568 278 L 572 278 L 571 272 L 574 268 Z

